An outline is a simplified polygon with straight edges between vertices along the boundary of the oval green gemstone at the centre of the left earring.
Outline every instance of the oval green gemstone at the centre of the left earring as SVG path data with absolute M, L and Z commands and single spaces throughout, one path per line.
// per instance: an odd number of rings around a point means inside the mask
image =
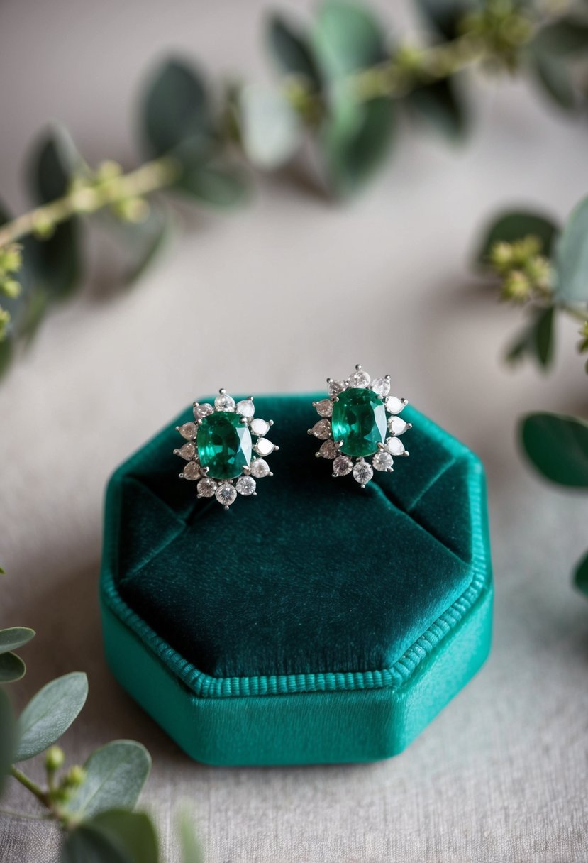
M 198 457 L 209 476 L 230 480 L 251 463 L 251 432 L 239 413 L 209 413 L 198 426 Z

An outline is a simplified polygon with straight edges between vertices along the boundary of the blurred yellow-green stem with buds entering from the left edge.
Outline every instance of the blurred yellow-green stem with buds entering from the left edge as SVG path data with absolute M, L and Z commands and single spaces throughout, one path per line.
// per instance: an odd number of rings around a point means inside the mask
M 78 213 L 93 213 L 116 204 L 125 198 L 141 197 L 149 192 L 171 186 L 179 174 L 178 163 L 170 156 L 146 162 L 127 174 L 103 180 L 99 186 L 82 186 L 56 198 L 48 204 L 35 207 L 7 222 L 0 228 L 0 248 L 15 243 L 38 230 L 40 226 L 53 227 Z

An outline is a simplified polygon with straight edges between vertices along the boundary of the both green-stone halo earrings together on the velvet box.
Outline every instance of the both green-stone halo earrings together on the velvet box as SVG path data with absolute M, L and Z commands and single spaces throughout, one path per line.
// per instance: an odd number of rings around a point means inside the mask
M 390 395 L 390 375 L 372 379 L 359 365 L 347 380 L 327 378 L 327 385 L 328 396 L 312 403 L 320 419 L 308 433 L 322 441 L 316 456 L 332 461 L 333 476 L 352 474 L 365 488 L 374 469 L 391 472 L 394 457 L 409 455 L 400 435 L 412 426 L 398 416 L 407 401 Z M 216 497 L 225 509 L 237 494 L 257 494 L 257 481 L 273 476 L 266 458 L 279 449 L 266 438 L 272 425 L 255 416 L 252 395 L 235 402 L 221 389 L 213 405 L 194 402 L 194 422 L 176 429 L 186 441 L 173 450 L 186 462 L 180 478 L 197 482 L 199 498 Z

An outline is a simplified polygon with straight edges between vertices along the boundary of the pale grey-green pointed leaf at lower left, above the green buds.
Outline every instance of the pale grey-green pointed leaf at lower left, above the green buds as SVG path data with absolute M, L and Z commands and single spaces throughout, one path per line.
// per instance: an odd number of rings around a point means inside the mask
M 72 671 L 47 683 L 28 702 L 18 721 L 16 761 L 26 761 L 59 740 L 84 707 L 88 678 Z

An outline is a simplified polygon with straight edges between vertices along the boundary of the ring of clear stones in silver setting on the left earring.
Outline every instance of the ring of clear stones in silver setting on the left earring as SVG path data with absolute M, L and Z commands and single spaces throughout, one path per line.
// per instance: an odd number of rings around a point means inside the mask
M 197 482 L 198 498 L 215 497 L 225 509 L 235 503 L 240 495 L 242 497 L 257 497 L 257 482 L 265 476 L 273 476 L 266 463 L 266 458 L 272 452 L 279 450 L 278 446 L 266 438 L 267 432 L 272 428 L 273 420 L 255 417 L 253 395 L 247 399 L 235 401 L 225 389 L 218 391 L 212 405 L 195 401 L 193 411 L 193 422 L 176 425 L 176 431 L 185 440 L 181 447 L 173 450 L 175 456 L 183 458 L 186 462 L 184 470 L 178 475 L 180 479 Z M 241 423 L 247 425 L 251 432 L 253 450 L 251 461 L 241 470 L 241 475 L 235 476 L 233 479 L 226 480 L 212 476 L 210 469 L 203 468 L 200 464 L 198 429 L 202 425 L 203 418 L 211 413 L 238 413 L 241 415 Z

